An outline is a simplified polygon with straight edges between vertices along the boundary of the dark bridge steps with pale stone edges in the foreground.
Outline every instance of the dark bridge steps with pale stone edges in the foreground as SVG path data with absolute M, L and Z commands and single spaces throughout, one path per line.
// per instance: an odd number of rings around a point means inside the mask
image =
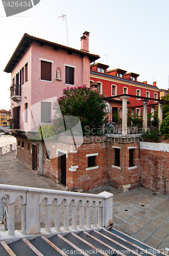
M 57 234 L 51 238 L 44 236 L 32 241 L 21 239 L 7 245 L 0 244 L 1 256 L 93 256 L 93 255 L 166 255 L 156 249 L 131 238 L 127 234 L 114 228 L 101 229 L 90 232 Z

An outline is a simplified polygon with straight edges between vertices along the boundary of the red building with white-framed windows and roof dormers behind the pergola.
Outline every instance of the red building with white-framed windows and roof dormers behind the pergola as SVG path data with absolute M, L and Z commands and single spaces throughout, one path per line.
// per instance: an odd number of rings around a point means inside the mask
M 143 104 L 140 102 L 140 97 L 151 98 L 148 105 L 148 113 L 151 112 L 150 106 L 156 105 L 157 101 L 154 99 L 159 99 L 160 89 L 157 88 L 156 82 L 148 84 L 147 81 L 139 82 L 137 81 L 138 74 L 127 73 L 127 71 L 122 69 L 112 69 L 107 70 L 109 66 L 94 63 L 91 65 L 91 84 L 97 83 L 97 90 L 99 93 L 106 96 L 120 96 L 123 94 L 139 96 L 130 97 L 129 102 L 131 107 L 134 108 L 134 114 L 138 116 L 142 115 Z M 112 108 L 112 113 L 114 110 L 117 111 L 117 108 Z

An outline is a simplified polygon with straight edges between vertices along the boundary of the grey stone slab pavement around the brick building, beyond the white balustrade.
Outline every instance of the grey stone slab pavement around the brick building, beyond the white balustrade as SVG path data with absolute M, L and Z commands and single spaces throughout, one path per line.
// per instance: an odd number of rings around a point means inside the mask
M 15 152 L 0 156 L 0 174 L 0 182 L 3 184 L 65 189 L 65 186 L 36 175 L 15 158 Z M 156 195 L 141 187 L 124 193 L 108 186 L 90 190 L 89 193 L 98 194 L 102 191 L 114 194 L 113 222 L 116 229 L 167 253 L 169 196 Z

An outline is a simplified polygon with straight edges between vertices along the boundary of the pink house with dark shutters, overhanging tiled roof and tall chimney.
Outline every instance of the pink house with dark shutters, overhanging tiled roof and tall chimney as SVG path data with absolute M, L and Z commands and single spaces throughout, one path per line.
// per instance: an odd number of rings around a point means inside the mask
M 11 127 L 30 131 L 50 122 L 52 102 L 64 88 L 90 86 L 89 32 L 81 37 L 81 50 L 24 34 L 5 72 L 11 73 Z M 42 114 L 43 113 L 43 114 Z

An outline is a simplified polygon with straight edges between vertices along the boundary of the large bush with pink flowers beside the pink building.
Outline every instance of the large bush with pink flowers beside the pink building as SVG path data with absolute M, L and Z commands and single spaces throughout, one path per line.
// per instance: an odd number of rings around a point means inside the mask
M 91 91 L 85 85 L 67 88 L 64 89 L 63 96 L 53 102 L 55 114 L 52 122 L 58 129 L 58 122 L 61 117 L 58 113 L 61 112 L 63 117 L 76 116 L 80 119 L 83 135 L 89 134 L 89 130 L 92 129 L 95 129 L 97 134 L 105 122 L 105 106 L 103 96 L 96 91 Z M 86 129 L 87 126 L 88 130 Z

